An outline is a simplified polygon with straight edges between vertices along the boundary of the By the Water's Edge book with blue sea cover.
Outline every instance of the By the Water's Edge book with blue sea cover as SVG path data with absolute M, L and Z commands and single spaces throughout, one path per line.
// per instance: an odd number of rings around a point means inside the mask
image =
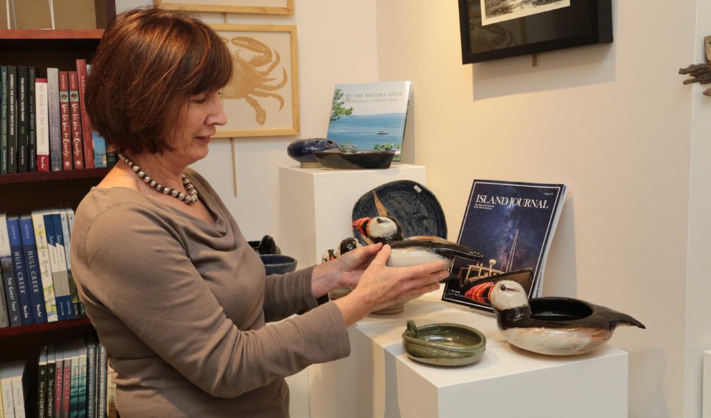
M 410 86 L 409 81 L 337 84 L 326 136 L 342 151 L 395 151 L 392 161 L 400 161 Z

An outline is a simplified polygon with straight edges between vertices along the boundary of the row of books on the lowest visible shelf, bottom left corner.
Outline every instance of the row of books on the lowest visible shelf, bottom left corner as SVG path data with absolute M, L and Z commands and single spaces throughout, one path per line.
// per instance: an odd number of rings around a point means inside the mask
M 117 417 L 115 373 L 106 350 L 93 334 L 65 343 L 44 345 L 31 382 L 23 360 L 0 365 L 0 417 Z M 31 397 L 36 390 L 36 397 Z M 30 400 L 37 400 L 36 405 Z

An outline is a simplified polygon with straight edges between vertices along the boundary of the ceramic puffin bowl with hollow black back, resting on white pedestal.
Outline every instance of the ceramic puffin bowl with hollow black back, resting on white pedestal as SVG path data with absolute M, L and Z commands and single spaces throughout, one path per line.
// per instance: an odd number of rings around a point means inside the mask
M 635 318 L 578 299 L 526 297 L 511 280 L 492 284 L 489 294 L 498 329 L 518 348 L 549 355 L 587 353 L 604 344 L 618 325 L 646 328 Z

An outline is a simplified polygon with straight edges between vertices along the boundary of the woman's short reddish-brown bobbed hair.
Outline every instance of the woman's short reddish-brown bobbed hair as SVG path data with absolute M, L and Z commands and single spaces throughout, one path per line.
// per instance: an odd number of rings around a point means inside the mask
M 230 82 L 230 52 L 212 28 L 178 11 L 134 9 L 109 24 L 92 60 L 86 106 L 115 151 L 162 152 L 191 95 Z

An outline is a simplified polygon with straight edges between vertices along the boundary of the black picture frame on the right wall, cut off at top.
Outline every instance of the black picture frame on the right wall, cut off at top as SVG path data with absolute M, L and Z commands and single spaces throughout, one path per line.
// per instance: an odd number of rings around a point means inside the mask
M 570 6 L 481 25 L 481 0 L 459 0 L 463 64 L 611 43 L 612 1 L 570 0 Z

